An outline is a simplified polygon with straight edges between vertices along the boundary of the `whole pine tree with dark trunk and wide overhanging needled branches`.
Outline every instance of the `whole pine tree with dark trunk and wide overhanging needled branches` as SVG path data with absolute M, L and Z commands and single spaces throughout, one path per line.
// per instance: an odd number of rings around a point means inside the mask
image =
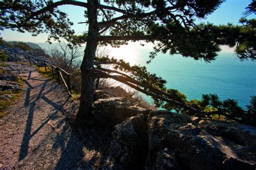
M 254 19 L 241 20 L 243 26 L 195 23 L 196 19 L 210 15 L 223 2 L 119 0 L 102 4 L 98 0 L 5 1 L 0 2 L 0 29 L 29 31 L 33 36 L 46 32 L 49 33 L 49 41 L 64 37 L 74 44 L 86 42 L 80 67 L 82 95 L 78 112 L 78 116 L 84 118 L 91 115 L 94 80 L 91 68 L 98 45 L 120 46 L 129 40 L 157 42 L 149 62 L 159 52 L 179 53 L 195 60 L 211 62 L 220 51 L 219 45 L 238 45 L 236 52 L 240 59 L 255 60 Z M 66 13 L 57 9 L 62 5 L 76 5 L 85 9 L 86 33 L 75 36 Z

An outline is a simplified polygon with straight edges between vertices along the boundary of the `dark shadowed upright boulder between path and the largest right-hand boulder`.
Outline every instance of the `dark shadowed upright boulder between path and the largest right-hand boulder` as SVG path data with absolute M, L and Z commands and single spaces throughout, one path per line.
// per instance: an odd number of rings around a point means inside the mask
M 145 116 L 138 114 L 115 126 L 110 155 L 120 168 L 138 169 L 145 162 Z

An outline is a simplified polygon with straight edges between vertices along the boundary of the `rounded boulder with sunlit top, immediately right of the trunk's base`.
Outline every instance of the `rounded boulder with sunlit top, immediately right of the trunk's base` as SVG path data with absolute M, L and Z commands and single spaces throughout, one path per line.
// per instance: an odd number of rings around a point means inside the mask
M 137 114 L 147 114 L 149 109 L 123 98 L 101 98 L 92 105 L 92 115 L 103 124 L 116 125 Z

